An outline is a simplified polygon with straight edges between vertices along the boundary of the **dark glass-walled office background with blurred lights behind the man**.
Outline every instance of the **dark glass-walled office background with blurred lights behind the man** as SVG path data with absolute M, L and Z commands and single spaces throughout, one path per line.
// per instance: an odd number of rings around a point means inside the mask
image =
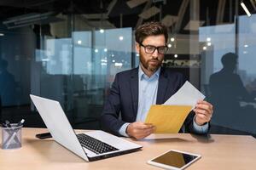
M 134 29 L 150 20 L 169 29 L 163 65 L 214 105 L 211 133 L 255 135 L 255 0 L 0 1 L 1 120 L 44 127 L 36 94 L 58 100 L 74 128 L 100 128 L 114 75 L 138 65 Z

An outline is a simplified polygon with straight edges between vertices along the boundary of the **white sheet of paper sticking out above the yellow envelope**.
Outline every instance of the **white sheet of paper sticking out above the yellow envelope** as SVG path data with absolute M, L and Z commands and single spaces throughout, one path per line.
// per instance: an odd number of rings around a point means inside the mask
M 190 82 L 186 81 L 183 87 L 179 88 L 176 94 L 173 94 L 163 105 L 192 105 L 191 110 L 195 108 L 199 99 L 205 99 L 206 96 L 195 88 Z

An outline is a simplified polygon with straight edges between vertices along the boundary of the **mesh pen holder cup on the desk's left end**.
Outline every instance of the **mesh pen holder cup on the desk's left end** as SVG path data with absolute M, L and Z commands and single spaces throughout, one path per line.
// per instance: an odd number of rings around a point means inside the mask
M 10 124 L 11 127 L 2 127 L 2 149 L 11 150 L 21 147 L 21 126 L 17 123 Z

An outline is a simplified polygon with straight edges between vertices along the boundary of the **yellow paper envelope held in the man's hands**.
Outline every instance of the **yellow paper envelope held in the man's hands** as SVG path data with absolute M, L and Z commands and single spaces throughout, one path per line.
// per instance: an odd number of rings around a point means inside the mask
M 178 133 L 191 109 L 191 105 L 151 105 L 145 122 L 156 127 L 154 133 Z

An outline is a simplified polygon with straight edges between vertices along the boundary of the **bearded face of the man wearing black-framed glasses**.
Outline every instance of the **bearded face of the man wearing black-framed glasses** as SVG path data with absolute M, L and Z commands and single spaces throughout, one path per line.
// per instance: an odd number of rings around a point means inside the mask
M 166 38 L 164 35 L 159 36 L 149 36 L 142 42 L 143 46 L 154 46 L 154 47 L 164 47 L 166 46 Z M 164 59 L 164 54 L 159 54 L 158 50 L 155 49 L 153 54 L 148 54 L 145 51 L 145 47 L 140 44 L 136 44 L 137 53 L 140 54 L 141 66 L 148 71 L 157 71 L 157 69 L 162 64 Z

